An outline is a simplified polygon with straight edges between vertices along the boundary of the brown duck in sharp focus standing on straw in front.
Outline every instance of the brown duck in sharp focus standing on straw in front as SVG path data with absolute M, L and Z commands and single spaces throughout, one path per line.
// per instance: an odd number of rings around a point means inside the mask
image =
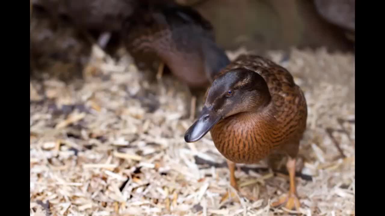
M 184 139 L 195 142 L 210 131 L 214 145 L 227 159 L 235 189 L 235 163 L 288 155 L 290 190 L 272 205 L 298 209 L 295 163 L 306 119 L 305 96 L 289 71 L 260 56 L 241 55 L 215 78 L 201 115 Z

